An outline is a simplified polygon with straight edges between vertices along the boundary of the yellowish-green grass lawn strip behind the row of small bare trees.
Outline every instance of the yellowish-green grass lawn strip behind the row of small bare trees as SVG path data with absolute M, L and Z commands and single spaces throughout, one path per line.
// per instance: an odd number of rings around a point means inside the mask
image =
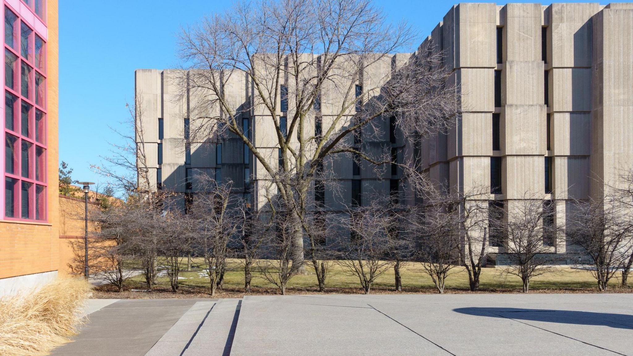
M 180 273 L 181 293 L 209 293 L 209 279 L 204 270 L 199 266 L 202 261 L 194 258 L 192 270 L 186 270 L 186 258 L 183 260 L 183 270 Z M 289 293 L 305 293 L 317 291 L 316 277 L 311 270 L 311 265 L 306 265 L 307 274 L 292 277 L 289 281 Z M 468 291 L 468 274 L 463 267 L 455 267 L 451 276 L 446 280 L 446 293 L 463 293 Z M 156 289 L 168 290 L 168 277 L 163 275 L 158 277 Z M 429 276 L 423 274 L 420 265 L 410 263 L 402 269 L 402 283 L 404 291 L 417 293 L 433 293 L 434 284 Z M 336 293 L 359 293 L 360 283 L 355 276 L 348 276 L 337 265 L 332 267 L 332 273 L 326 281 L 327 288 Z M 619 279 L 611 280 L 611 289 L 619 289 Z M 629 283 L 629 286 L 633 286 Z M 258 273 L 254 273 L 251 284 L 251 293 L 275 293 L 275 286 L 268 283 Z M 127 282 L 127 288 L 146 288 L 142 276 L 132 277 Z M 225 274 L 224 293 L 243 293 L 244 272 L 238 260 L 229 261 L 229 270 Z M 534 277 L 530 283 L 532 291 L 597 291 L 596 280 L 587 270 L 572 269 L 570 267 L 560 267 L 558 272 Z M 504 276 L 501 270 L 495 268 L 482 269 L 480 278 L 480 290 L 488 292 L 515 292 L 521 290 L 521 281 L 518 277 Z M 390 293 L 394 291 L 394 272 L 388 269 L 387 272 L 378 277 L 372 286 L 373 293 Z

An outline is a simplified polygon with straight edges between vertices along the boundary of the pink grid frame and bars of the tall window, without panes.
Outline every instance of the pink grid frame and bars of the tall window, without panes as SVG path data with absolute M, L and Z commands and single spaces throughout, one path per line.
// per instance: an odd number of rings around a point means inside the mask
M 18 100 L 16 100 L 15 106 L 14 106 L 14 115 L 18 116 L 18 118 L 16 119 L 15 117 L 13 118 L 15 120 L 14 122 L 14 126 L 13 129 L 15 130 L 9 130 L 6 129 L 6 117 L 5 122 L 3 123 L 3 136 L 4 139 L 6 140 L 6 135 L 10 134 L 11 136 L 15 136 L 18 138 L 18 140 L 15 143 L 15 155 L 16 157 L 18 157 L 16 159 L 16 169 L 14 170 L 15 174 L 12 173 L 8 173 L 5 172 L 5 168 L 3 165 L 2 169 L 4 172 L 4 179 L 3 179 L 3 188 L 6 189 L 6 187 L 4 187 L 4 185 L 6 184 L 6 178 L 12 178 L 15 179 L 17 181 L 16 187 L 15 187 L 15 191 L 14 191 L 14 196 L 15 196 L 15 202 L 13 205 L 13 209 L 14 209 L 14 214 L 15 217 L 7 217 L 6 216 L 6 211 L 5 211 L 5 201 L 4 201 L 4 193 L 5 190 L 2 189 L 2 194 L 0 194 L 2 196 L 2 200 L 0 201 L 0 205 L 2 205 L 1 211 L 2 211 L 2 216 L 4 219 L 6 220 L 19 220 L 19 221 L 27 221 L 27 222 L 47 222 L 48 221 L 48 197 L 47 197 L 47 192 L 48 192 L 48 182 L 47 182 L 47 177 L 48 177 L 48 167 L 47 167 L 47 163 L 48 163 L 48 159 L 47 159 L 47 155 L 48 155 L 48 146 L 47 146 L 47 108 L 46 108 L 46 104 L 47 104 L 47 76 L 46 76 L 46 54 L 47 54 L 47 41 L 46 41 L 46 35 L 47 34 L 42 34 L 41 32 L 39 32 L 39 30 L 37 30 L 37 25 L 33 25 L 32 23 L 28 22 L 28 19 L 25 18 L 23 16 L 23 13 L 20 13 L 20 11 L 17 11 L 17 9 L 14 6 L 11 6 L 10 3 L 15 3 L 16 0 L 5 0 L 3 1 L 4 7 L 7 8 L 8 10 L 12 11 L 14 15 L 16 15 L 16 20 L 15 20 L 15 25 L 14 25 L 14 41 L 16 43 L 16 49 L 11 48 L 10 46 L 4 44 L 4 33 L 3 33 L 3 45 L 4 45 L 4 51 L 9 51 L 11 53 L 13 53 L 15 56 L 18 57 L 18 60 L 16 60 L 16 64 L 15 64 L 15 69 L 17 70 L 17 75 L 15 75 L 15 83 L 14 83 L 14 89 L 11 89 L 9 87 L 7 87 L 6 85 L 4 86 L 4 95 L 6 96 L 6 92 L 12 94 L 13 96 L 15 96 L 16 98 L 18 98 Z M 22 6 L 26 6 L 25 3 L 20 3 L 22 4 Z M 20 10 L 24 11 L 23 8 L 21 8 Z M 27 15 L 34 15 L 37 18 L 39 18 L 39 16 L 37 16 L 37 14 L 35 14 L 34 8 L 28 8 L 28 10 L 30 10 L 30 14 Z M 4 8 L 3 8 L 3 16 L 4 16 Z M 3 22 L 4 22 L 4 18 L 3 18 Z M 32 60 L 29 60 L 28 58 L 24 58 L 22 56 L 22 51 L 21 51 L 21 41 L 22 41 L 22 26 L 26 25 L 30 30 L 32 30 L 32 33 L 29 36 L 28 42 L 29 42 L 29 54 L 31 55 Z M 4 32 L 4 26 L 2 27 L 2 31 Z M 43 48 L 42 48 L 42 69 L 37 68 L 37 66 L 35 66 L 35 36 L 37 35 L 37 37 L 39 37 L 40 39 L 42 39 L 43 42 Z M 28 67 L 31 68 L 31 72 L 30 72 L 30 76 L 28 78 L 28 82 L 29 82 L 29 92 L 28 92 L 28 96 L 30 96 L 30 98 L 27 98 L 25 96 L 22 96 L 22 66 L 21 64 L 25 63 L 26 65 L 28 65 Z M 4 75 L 6 75 L 6 73 L 3 72 L 3 82 L 4 82 Z M 36 87 L 35 87 L 35 75 L 36 73 L 39 73 L 39 75 L 41 75 L 44 78 L 44 89 L 42 90 L 42 94 L 44 95 L 44 98 L 42 98 L 42 104 L 43 106 L 37 105 L 36 101 L 37 101 L 37 93 L 36 93 Z M 26 103 L 28 105 L 30 105 L 30 112 L 28 113 L 28 125 L 31 128 L 31 131 L 28 132 L 29 136 L 23 136 L 22 135 L 22 103 Z M 3 105 L 4 105 L 4 101 L 3 101 Z M 6 110 L 3 110 L 3 115 L 4 112 Z M 35 124 L 35 113 L 36 111 L 41 111 L 44 114 L 44 122 L 42 123 L 42 130 L 43 132 L 41 132 L 41 137 L 42 137 L 42 141 L 44 141 L 43 143 L 39 143 L 37 141 L 37 127 Z M 29 162 L 29 170 L 30 170 L 30 174 L 28 174 L 28 177 L 22 177 L 22 143 L 23 142 L 27 142 L 30 143 L 30 148 L 29 148 L 29 158 L 30 158 L 30 162 Z M 4 149 L 5 144 L 2 145 L 2 149 Z M 43 181 L 37 181 L 36 177 L 37 177 L 37 172 L 36 172 L 36 166 L 37 166 L 37 147 L 43 148 L 44 149 L 44 158 L 43 158 L 43 166 L 41 167 L 41 173 L 42 173 L 42 179 Z M 4 160 L 4 157 L 6 157 L 6 155 L 2 156 L 2 160 Z M 3 162 L 6 163 L 6 162 Z M 28 182 L 31 184 L 30 188 L 29 188 L 29 196 L 30 196 L 30 201 L 29 201 L 29 211 L 28 211 L 28 215 L 30 216 L 30 218 L 22 218 L 22 182 Z M 43 186 L 44 187 L 44 191 L 43 191 L 43 198 L 42 198 L 42 204 L 43 207 L 42 209 L 42 215 L 40 216 L 41 219 L 36 219 L 36 215 L 37 212 L 35 210 L 35 207 L 37 205 L 37 186 Z

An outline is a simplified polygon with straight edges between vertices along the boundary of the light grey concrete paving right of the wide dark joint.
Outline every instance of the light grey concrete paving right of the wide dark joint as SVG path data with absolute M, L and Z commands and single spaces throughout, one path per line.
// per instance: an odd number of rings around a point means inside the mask
M 628 296 L 247 296 L 232 355 L 630 356 Z

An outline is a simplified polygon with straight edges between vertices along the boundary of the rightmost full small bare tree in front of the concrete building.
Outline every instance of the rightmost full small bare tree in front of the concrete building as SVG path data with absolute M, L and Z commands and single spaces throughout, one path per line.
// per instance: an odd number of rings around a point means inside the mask
M 629 262 L 633 248 L 630 210 L 608 194 L 577 201 L 575 207 L 575 212 L 567 218 L 568 241 L 591 257 L 591 274 L 598 281 L 598 289 L 605 291 L 618 269 Z

